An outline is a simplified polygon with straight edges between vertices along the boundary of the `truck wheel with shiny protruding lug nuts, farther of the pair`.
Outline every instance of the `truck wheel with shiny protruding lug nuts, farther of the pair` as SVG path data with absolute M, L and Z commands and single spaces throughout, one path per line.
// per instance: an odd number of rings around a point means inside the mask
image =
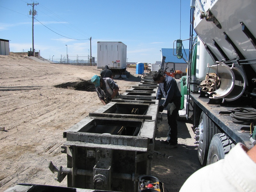
M 196 133 L 196 143 L 198 143 L 197 156 L 202 166 L 206 165 L 210 141 L 216 133 L 218 133 L 218 127 L 202 112 L 198 132 Z

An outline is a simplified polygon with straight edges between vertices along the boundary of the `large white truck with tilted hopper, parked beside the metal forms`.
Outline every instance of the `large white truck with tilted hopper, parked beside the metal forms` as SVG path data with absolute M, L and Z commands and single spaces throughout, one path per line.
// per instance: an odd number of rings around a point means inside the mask
M 256 144 L 256 1 L 191 0 L 190 6 L 188 73 L 180 82 L 204 166 L 238 142 Z

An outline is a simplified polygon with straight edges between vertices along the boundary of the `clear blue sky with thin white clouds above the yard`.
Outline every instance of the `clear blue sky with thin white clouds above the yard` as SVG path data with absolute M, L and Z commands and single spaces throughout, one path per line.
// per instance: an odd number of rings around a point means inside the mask
M 33 2 L 39 3 L 34 47 L 45 59 L 54 55 L 53 61 L 66 56 L 67 48 L 69 59 L 87 60 L 92 37 L 92 57 L 97 58 L 98 41 L 121 41 L 128 62 L 155 63 L 162 48 L 189 38 L 190 0 L 0 0 L 0 39 L 10 40 L 10 52 L 32 48 L 32 6 L 27 4 Z

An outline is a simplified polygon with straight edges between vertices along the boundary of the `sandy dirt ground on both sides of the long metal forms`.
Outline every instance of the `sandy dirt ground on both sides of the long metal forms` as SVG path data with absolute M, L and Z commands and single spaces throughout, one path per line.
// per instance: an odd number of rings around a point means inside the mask
M 128 68 L 128 72 L 128 79 L 115 79 L 120 93 L 140 82 L 136 69 Z M 96 92 L 53 85 L 77 78 L 89 80 L 99 74 L 96 66 L 39 63 L 24 56 L 0 55 L 0 127 L 5 127 L 0 131 L 0 191 L 18 183 L 67 187 L 66 178 L 61 183 L 54 180 L 56 173 L 49 170 L 48 163 L 66 167 L 66 155 L 61 153 L 63 131 L 103 105 Z M 191 126 L 178 122 L 178 148 L 165 149 L 159 140 L 166 139 L 168 131 L 166 110 L 157 125 L 155 150 L 170 157 L 153 156 L 151 174 L 164 183 L 164 191 L 179 191 L 200 168 Z

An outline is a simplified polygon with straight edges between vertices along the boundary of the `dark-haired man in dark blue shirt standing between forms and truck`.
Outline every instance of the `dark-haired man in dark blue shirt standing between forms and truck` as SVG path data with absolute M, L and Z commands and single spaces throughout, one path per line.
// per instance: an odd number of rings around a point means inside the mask
M 168 144 L 166 145 L 166 148 L 177 148 L 178 127 L 176 119 L 181 104 L 180 90 L 177 86 L 177 82 L 171 76 L 156 73 L 153 76 L 153 80 L 159 84 L 156 99 L 160 101 L 163 96 L 165 98 L 163 105 L 159 106 L 158 111 L 163 112 L 164 108 L 167 107 L 169 132 L 167 134 L 167 139 L 161 140 L 161 143 Z

